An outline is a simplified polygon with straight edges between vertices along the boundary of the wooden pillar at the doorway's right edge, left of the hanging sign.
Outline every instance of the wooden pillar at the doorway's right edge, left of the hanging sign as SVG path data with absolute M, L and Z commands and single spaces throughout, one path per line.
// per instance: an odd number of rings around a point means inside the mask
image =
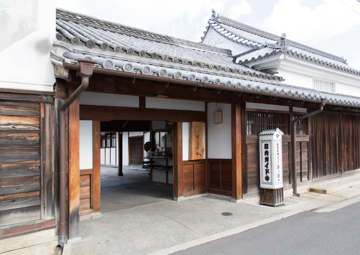
M 183 174 L 183 122 L 174 122 L 174 184 L 173 196 L 177 201 L 183 197 L 184 193 L 184 174 Z

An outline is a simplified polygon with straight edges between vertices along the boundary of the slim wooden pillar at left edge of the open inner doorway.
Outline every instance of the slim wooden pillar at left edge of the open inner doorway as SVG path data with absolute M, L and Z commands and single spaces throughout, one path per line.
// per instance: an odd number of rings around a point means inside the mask
M 93 214 L 100 213 L 100 121 L 93 120 L 93 179 L 91 180 Z

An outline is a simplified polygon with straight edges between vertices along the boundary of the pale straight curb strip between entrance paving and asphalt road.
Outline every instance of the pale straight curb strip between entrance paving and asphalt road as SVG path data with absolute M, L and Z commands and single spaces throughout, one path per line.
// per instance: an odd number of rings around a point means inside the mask
M 156 251 L 156 252 L 150 253 L 148 255 L 172 254 L 174 252 L 185 250 L 185 249 L 188 249 L 190 247 L 201 245 L 203 243 L 211 242 L 211 241 L 220 239 L 222 237 L 230 236 L 230 235 L 233 235 L 233 234 L 238 234 L 238 233 L 244 232 L 244 231 L 246 231 L 248 229 L 256 228 L 258 226 L 265 225 L 265 224 L 270 223 L 270 222 L 275 222 L 276 220 L 281 220 L 281 219 L 287 218 L 289 216 L 292 216 L 292 215 L 295 215 L 295 214 L 298 214 L 298 213 L 301 213 L 301 212 L 303 212 L 303 210 L 290 211 L 290 212 L 283 213 L 283 214 L 280 214 L 280 215 L 276 215 L 276 216 L 273 216 L 273 217 L 270 217 L 270 218 L 267 218 L 267 219 L 264 219 L 264 220 L 260 220 L 258 222 L 253 222 L 253 223 L 241 226 L 241 227 L 233 228 L 233 229 L 230 229 L 230 230 L 227 230 L 227 231 L 224 231 L 224 232 L 213 234 L 211 236 L 207 236 L 207 237 L 203 237 L 203 238 L 200 238 L 200 239 L 197 239 L 197 240 L 194 240 L 194 241 L 183 243 L 181 245 L 176 245 L 176 246 L 173 246 L 173 247 L 161 250 L 161 251 Z

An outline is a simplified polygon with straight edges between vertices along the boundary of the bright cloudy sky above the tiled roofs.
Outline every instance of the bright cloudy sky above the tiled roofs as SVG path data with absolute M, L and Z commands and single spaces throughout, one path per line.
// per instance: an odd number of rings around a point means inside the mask
M 59 8 L 200 42 L 211 10 L 344 56 L 360 70 L 360 0 L 56 0 Z

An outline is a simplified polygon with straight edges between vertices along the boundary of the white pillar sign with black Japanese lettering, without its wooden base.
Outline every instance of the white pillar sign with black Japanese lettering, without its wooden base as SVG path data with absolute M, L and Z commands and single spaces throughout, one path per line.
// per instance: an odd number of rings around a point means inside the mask
M 259 134 L 260 188 L 283 188 L 282 135 L 276 128 Z

